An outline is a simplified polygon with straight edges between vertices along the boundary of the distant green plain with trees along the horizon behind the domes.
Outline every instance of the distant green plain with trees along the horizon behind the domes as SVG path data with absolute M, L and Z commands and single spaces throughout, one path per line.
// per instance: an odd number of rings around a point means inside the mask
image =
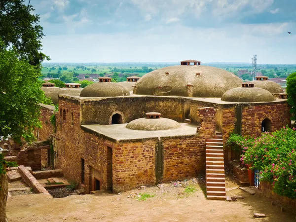
M 126 81 L 129 76 L 143 76 L 153 70 L 179 65 L 180 63 L 43 63 L 41 81 L 56 83 L 60 80 L 64 83 L 78 82 L 81 87 L 98 81 L 99 77 L 111 77 L 114 82 Z M 224 69 L 239 76 L 244 81 L 252 80 L 253 67 L 251 63 L 203 63 L 204 66 L 212 66 Z M 289 74 L 296 72 L 296 64 L 259 64 L 257 75 L 265 75 L 286 86 L 285 79 Z M 272 79 L 274 78 L 274 79 Z

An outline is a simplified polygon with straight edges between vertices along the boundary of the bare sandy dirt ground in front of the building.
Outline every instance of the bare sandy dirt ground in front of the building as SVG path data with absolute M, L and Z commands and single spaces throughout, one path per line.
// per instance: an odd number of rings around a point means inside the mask
M 134 189 L 121 194 L 97 193 L 50 198 L 31 194 L 10 196 L 9 222 L 295 222 L 295 215 L 280 212 L 271 201 L 250 195 L 226 179 L 226 195 L 242 195 L 237 201 L 207 200 L 204 180 L 193 179 Z M 234 189 L 232 189 L 234 188 Z M 143 200 L 137 195 L 148 196 Z M 256 219 L 254 213 L 266 218 Z

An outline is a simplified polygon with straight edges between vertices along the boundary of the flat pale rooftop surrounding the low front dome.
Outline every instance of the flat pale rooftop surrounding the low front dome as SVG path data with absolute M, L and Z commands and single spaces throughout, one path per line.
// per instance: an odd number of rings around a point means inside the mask
M 196 125 L 188 123 L 180 123 L 181 128 L 171 130 L 131 130 L 125 128 L 127 123 L 114 125 L 81 125 L 82 128 L 91 130 L 92 132 L 107 136 L 111 139 L 120 140 L 135 140 L 146 138 L 172 137 L 172 136 L 188 136 L 196 135 Z

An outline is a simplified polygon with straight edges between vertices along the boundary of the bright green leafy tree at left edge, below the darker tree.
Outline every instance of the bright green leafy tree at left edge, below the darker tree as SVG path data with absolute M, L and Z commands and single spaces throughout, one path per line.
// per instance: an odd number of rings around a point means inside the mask
M 23 136 L 33 140 L 34 127 L 40 127 L 39 103 L 46 103 L 40 88 L 40 72 L 16 49 L 6 50 L 0 42 L 0 136 Z

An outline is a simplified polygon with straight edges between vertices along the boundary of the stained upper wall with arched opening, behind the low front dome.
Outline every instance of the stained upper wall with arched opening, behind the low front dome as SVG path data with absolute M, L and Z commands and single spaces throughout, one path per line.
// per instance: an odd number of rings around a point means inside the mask
M 66 98 L 61 98 L 60 100 Z M 111 116 L 120 113 L 123 123 L 145 117 L 146 112 L 160 112 L 162 117 L 183 122 L 189 114 L 188 99 L 178 97 L 114 97 L 81 102 L 81 124 L 111 123 Z

